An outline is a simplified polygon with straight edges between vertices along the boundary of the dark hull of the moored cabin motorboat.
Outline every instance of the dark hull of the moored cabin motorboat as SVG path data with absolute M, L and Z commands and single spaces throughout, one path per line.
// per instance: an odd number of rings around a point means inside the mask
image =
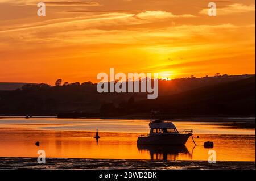
M 138 145 L 185 145 L 191 134 L 164 134 L 138 137 Z

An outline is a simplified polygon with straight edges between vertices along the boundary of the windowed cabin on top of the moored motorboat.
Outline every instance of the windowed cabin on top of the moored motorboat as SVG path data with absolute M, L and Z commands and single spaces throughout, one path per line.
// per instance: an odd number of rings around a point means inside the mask
M 179 134 L 177 128 L 171 121 L 155 120 L 150 124 L 150 135 L 156 134 Z

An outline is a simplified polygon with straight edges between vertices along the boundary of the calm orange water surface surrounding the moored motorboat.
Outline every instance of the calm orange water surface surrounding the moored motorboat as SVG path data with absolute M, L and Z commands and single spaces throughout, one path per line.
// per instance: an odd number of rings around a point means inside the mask
M 213 141 L 217 161 L 255 161 L 255 129 L 225 123 L 174 122 L 178 130 L 193 129 L 195 141 Z M 96 128 L 100 140 L 96 142 Z M 208 151 L 189 138 L 185 146 L 137 146 L 139 134 L 148 133 L 148 120 L 56 118 L 0 119 L 0 157 L 114 158 L 205 160 Z M 35 142 L 40 141 L 40 146 Z

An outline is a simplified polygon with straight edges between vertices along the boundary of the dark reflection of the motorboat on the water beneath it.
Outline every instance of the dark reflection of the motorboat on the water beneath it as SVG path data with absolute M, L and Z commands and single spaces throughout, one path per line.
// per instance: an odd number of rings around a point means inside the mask
M 151 159 L 176 160 L 179 154 L 190 156 L 185 145 L 137 145 L 139 151 L 147 151 Z

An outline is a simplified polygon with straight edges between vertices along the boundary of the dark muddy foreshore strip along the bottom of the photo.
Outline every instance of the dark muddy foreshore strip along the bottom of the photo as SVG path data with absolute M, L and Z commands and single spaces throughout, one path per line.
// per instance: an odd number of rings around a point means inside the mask
M 255 170 L 255 161 L 159 161 L 144 159 L 88 159 L 88 158 L 46 158 L 46 164 L 38 164 L 37 158 L 0 157 L 0 170 L 5 169 L 154 169 L 154 170 L 212 170 L 242 169 Z

